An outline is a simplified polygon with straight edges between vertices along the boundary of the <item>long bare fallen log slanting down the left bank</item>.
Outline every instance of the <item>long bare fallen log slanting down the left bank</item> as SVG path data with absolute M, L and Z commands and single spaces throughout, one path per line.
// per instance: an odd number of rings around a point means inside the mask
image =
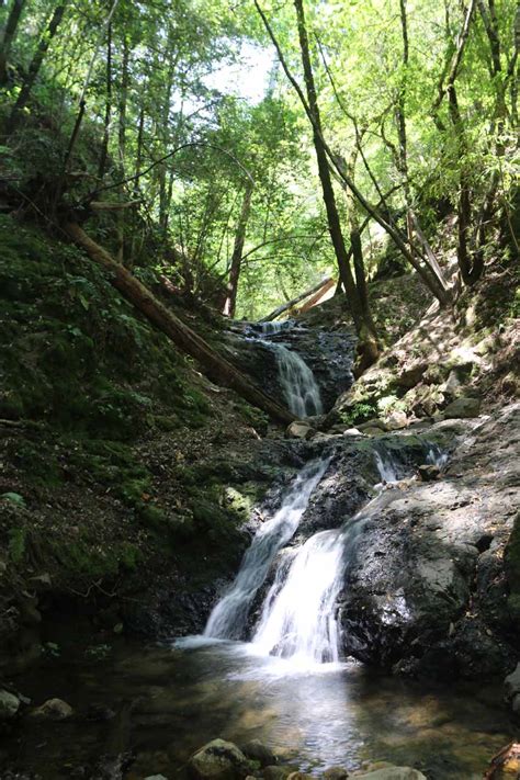
M 93 241 L 79 225 L 66 223 L 63 227 L 67 235 L 87 251 L 91 260 L 111 272 L 110 281 L 114 287 L 159 330 L 162 330 L 179 349 L 195 358 L 211 380 L 236 391 L 242 398 L 263 409 L 275 420 L 291 422 L 295 419 L 294 415 L 272 400 L 229 361 L 215 352 L 204 339 L 184 325 L 160 301 L 157 301 L 144 284 L 135 279 L 124 265 L 117 263 L 103 247 Z

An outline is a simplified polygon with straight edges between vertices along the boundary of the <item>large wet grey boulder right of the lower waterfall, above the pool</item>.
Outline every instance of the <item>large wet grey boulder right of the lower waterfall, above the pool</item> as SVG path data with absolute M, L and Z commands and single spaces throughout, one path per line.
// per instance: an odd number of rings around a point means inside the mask
M 519 498 L 519 411 L 475 428 L 440 479 L 399 483 L 357 520 L 339 604 L 346 655 L 429 677 L 511 669 L 520 631 L 504 551 Z

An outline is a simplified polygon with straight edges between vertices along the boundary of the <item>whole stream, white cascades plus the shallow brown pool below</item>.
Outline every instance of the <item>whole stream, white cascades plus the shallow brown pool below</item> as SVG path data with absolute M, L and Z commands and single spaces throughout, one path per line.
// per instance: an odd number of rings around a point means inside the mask
M 280 329 L 270 326 L 262 338 L 268 331 Z M 273 349 L 291 408 L 318 414 L 313 372 L 284 344 Z M 29 719 L 0 753 L 0 766 L 5 759 L 44 780 L 101 778 L 91 768 L 102 754 L 131 749 L 136 760 L 121 777 L 173 778 L 196 748 L 221 736 L 238 744 L 259 738 L 313 775 L 331 765 L 352 770 L 371 758 L 414 765 L 431 780 L 481 778 L 509 741 L 499 688 L 419 683 L 342 657 L 337 601 L 346 570 L 388 483 L 406 474 L 376 449 L 373 498 L 340 528 L 295 545 L 332 457 L 325 449 L 285 488 L 204 635 L 160 646 L 111 637 L 90 646 L 80 628 L 71 637 L 70 625 L 56 625 L 59 657 L 49 654 L 26 672 L 23 688 L 35 702 L 52 690 L 77 716 L 58 724 Z M 430 449 L 425 460 L 443 464 L 445 454 Z

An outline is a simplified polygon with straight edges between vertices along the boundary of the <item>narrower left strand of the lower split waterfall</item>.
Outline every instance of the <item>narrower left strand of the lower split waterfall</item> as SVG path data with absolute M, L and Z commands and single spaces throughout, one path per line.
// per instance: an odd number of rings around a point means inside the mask
M 210 615 L 205 636 L 240 638 L 258 589 L 265 580 L 274 556 L 294 535 L 310 494 L 321 479 L 330 459 L 308 463 L 297 475 L 282 506 L 264 522 L 247 550 L 238 575 Z

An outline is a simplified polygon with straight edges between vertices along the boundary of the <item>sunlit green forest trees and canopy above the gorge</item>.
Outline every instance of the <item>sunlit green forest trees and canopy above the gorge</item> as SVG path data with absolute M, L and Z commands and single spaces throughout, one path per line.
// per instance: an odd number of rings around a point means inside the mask
M 465 285 L 497 240 L 518 252 L 515 0 L 0 13 L 2 197 L 56 229 L 94 214 L 89 231 L 144 280 L 253 319 L 332 275 L 370 361 L 382 256 L 445 304 L 443 218 Z

